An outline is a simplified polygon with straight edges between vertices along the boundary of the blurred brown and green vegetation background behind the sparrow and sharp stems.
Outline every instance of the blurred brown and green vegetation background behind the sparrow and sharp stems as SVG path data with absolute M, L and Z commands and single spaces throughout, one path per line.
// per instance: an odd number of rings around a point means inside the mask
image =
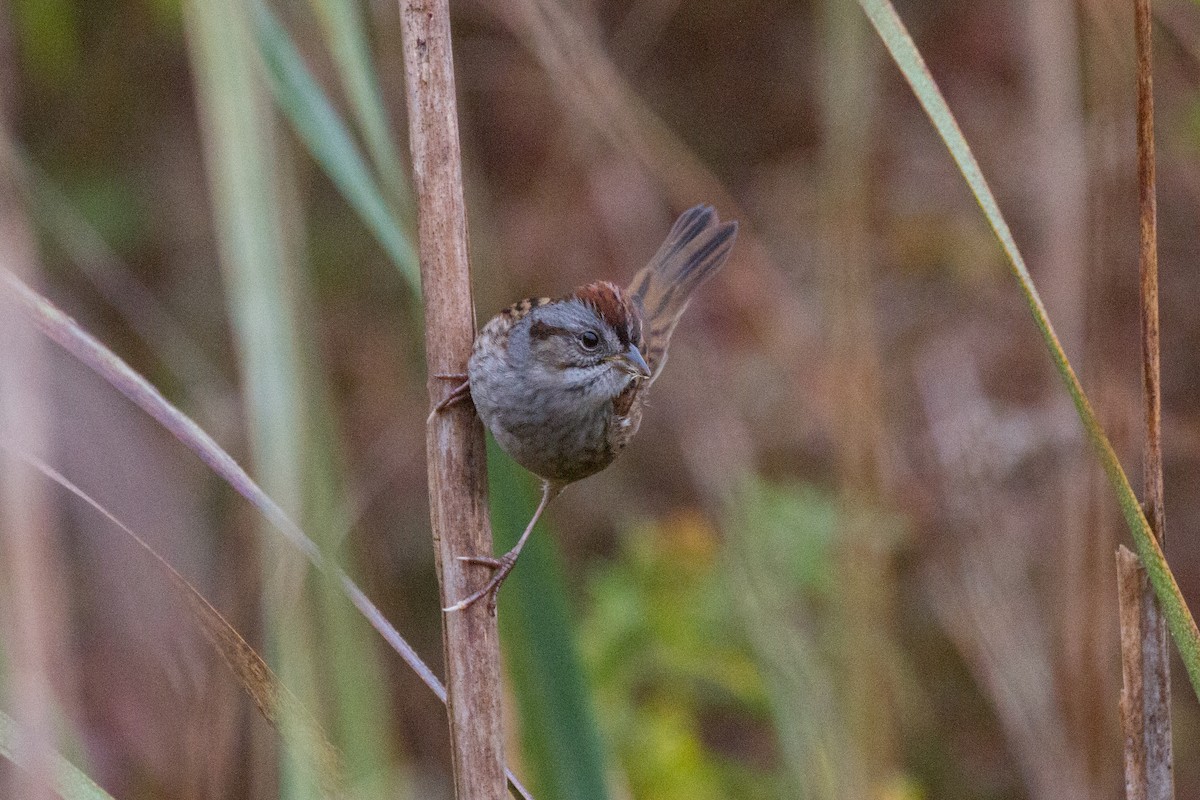
M 452 5 L 480 321 L 628 279 L 694 203 L 743 224 L 636 443 L 556 503 L 502 593 L 510 765 L 536 796 L 1123 796 L 1128 534 L 858 6 Z M 1132 6 L 898 10 L 1136 474 Z M 0 264 L 246 464 L 437 668 L 397 13 L 0 5 Z M 1168 554 L 1195 608 L 1200 5 L 1156 13 Z M 347 796 L 450 796 L 443 709 L 337 591 L 101 379 L 11 342 L 0 379 L 24 402 L 0 433 L 264 654 Z M 114 798 L 324 796 L 169 576 L 28 467 L 5 480 L 29 513 L 2 518 L 0 710 L 41 718 Z M 496 450 L 491 485 L 499 551 L 535 488 Z M 1177 796 L 1200 796 L 1200 708 L 1175 676 Z M 25 786 L 0 760 L 0 796 Z

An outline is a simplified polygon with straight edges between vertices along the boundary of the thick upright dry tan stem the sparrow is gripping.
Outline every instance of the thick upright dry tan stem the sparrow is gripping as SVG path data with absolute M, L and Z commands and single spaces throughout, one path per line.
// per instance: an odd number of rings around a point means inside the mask
M 448 0 L 402 0 L 409 146 L 418 197 L 425 354 L 431 403 L 454 386 L 437 374 L 464 373 L 475 336 L 467 263 L 458 120 Z M 491 554 L 484 429 L 469 407 L 430 417 L 430 516 L 443 606 L 472 591 L 458 555 Z M 475 576 L 479 577 L 479 576 Z M 504 795 L 499 642 L 486 603 L 446 614 L 446 708 L 458 800 Z

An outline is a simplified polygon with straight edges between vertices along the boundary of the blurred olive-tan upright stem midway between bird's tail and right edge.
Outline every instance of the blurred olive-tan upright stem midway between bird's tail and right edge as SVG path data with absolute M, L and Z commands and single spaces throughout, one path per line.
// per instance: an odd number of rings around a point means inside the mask
M 896 590 L 894 551 L 883 543 L 874 504 L 887 485 L 880 356 L 872 294 L 871 154 L 877 142 L 881 58 L 854 0 L 822 4 L 820 84 L 821 270 L 826 336 L 840 377 L 830 381 L 838 477 L 838 557 L 842 587 L 830 610 L 842 631 L 830 670 L 844 745 L 835 762 L 845 795 L 882 792 L 902 774 L 896 741 L 899 706 L 881 675 L 893 669 L 888 642 Z M 751 495 L 752 497 L 752 495 Z M 745 543 L 744 547 L 752 547 Z M 817 616 L 817 615 L 814 615 Z M 833 724 L 827 721 L 826 724 Z M 817 796 L 817 795 L 814 795 Z

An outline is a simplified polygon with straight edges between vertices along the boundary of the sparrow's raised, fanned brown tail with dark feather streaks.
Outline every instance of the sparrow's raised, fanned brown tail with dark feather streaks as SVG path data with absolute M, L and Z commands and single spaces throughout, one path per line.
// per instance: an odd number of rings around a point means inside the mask
M 659 252 L 634 276 L 629 291 L 642 305 L 642 355 L 652 381 L 666 363 L 671 333 L 692 293 L 721 269 L 737 234 L 737 222 L 722 224 L 713 206 L 697 205 L 680 215 Z

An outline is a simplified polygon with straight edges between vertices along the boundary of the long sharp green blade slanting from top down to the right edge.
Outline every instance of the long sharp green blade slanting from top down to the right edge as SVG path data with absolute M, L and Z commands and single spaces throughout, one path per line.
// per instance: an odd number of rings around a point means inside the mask
M 1138 503 L 1133 487 L 1129 485 L 1129 479 L 1126 476 L 1124 470 L 1121 469 L 1121 462 L 1117 459 L 1116 451 L 1112 450 L 1112 445 L 1104 434 L 1099 420 L 1096 419 L 1096 413 L 1092 410 L 1092 405 L 1084 393 L 1084 387 L 1080 385 L 1075 371 L 1067 360 L 1067 354 L 1063 353 L 1062 344 L 1058 343 L 1058 337 L 1050 324 L 1050 318 L 1046 315 L 1045 306 L 1042 305 L 1042 297 L 1038 296 L 1038 291 L 1033 285 L 1033 278 L 1030 277 L 1030 271 L 1025 266 L 1025 259 L 1021 257 L 1016 242 L 1013 240 L 1008 223 L 1004 222 L 1004 217 L 1000 212 L 996 198 L 992 196 L 991 188 L 988 186 L 988 181 L 984 179 L 983 172 L 979 169 L 979 164 L 976 162 L 974 155 L 971 152 L 971 148 L 962 136 L 962 131 L 959 130 L 959 125 L 954 120 L 946 98 L 942 97 L 941 90 L 938 90 L 937 84 L 934 82 L 934 77 L 925 66 L 924 59 L 920 58 L 917 46 L 913 43 L 912 37 L 908 36 L 908 31 L 896 14 L 895 8 L 889 0 L 859 0 L 859 5 L 866 12 L 871 24 L 875 25 L 875 30 L 878 31 L 880 38 L 883 40 L 883 44 L 888 48 L 896 66 L 900 67 L 908 85 L 912 86 L 922 108 L 925 109 L 925 114 L 929 115 L 934 127 L 937 128 L 938 136 L 942 137 L 942 142 L 946 143 L 950 156 L 958 164 L 959 172 L 962 173 L 967 186 L 974 193 L 976 200 L 978 200 L 984 216 L 988 218 L 988 224 L 991 225 L 991 229 L 996 233 L 996 237 L 1000 239 L 1001 247 L 1003 247 L 1004 254 L 1008 257 L 1008 263 L 1013 269 L 1013 275 L 1016 277 L 1021 293 L 1025 295 L 1025 301 L 1033 313 L 1033 321 L 1042 332 L 1042 338 L 1050 350 L 1050 357 L 1054 360 L 1055 368 L 1067 385 L 1067 391 L 1075 403 L 1075 410 L 1084 423 L 1087 438 L 1096 447 L 1109 483 L 1116 493 L 1121 513 L 1124 516 L 1126 523 L 1129 525 L 1129 533 L 1133 535 L 1134 547 L 1146 567 L 1151 584 L 1154 587 L 1158 602 L 1163 607 L 1166 624 L 1171 631 L 1171 638 L 1175 639 L 1175 646 L 1183 658 L 1183 666 L 1187 668 L 1188 678 L 1192 680 L 1192 687 L 1195 690 L 1196 696 L 1200 697 L 1200 631 L 1196 630 L 1192 612 L 1188 609 L 1187 603 L 1183 601 L 1183 595 L 1175 583 L 1175 576 L 1171 575 L 1163 549 L 1150 530 L 1150 524 L 1146 522 L 1141 505 Z

